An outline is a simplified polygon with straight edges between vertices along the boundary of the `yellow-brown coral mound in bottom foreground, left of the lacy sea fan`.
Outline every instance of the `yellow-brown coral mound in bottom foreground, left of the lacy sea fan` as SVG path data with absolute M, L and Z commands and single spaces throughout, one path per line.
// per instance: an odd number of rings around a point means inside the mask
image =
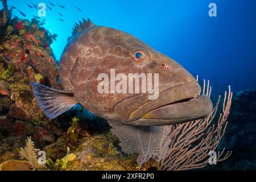
M 104 121 L 102 121 L 104 122 Z M 137 170 L 135 155 L 126 155 L 118 146 L 118 139 L 105 128 L 104 132 L 93 129 L 89 122 L 87 130 L 84 122 L 73 118 L 71 127 L 63 137 L 46 147 L 47 168 L 51 170 Z M 141 168 L 156 167 L 150 160 Z

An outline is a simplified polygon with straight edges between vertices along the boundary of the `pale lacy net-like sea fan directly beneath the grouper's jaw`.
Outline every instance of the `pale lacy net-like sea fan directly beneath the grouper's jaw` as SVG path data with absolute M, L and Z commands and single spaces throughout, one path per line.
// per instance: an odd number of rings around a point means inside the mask
M 130 126 L 110 122 L 112 132 L 119 141 L 122 151 L 127 154 L 138 154 L 139 168 L 150 158 L 156 161 L 163 159 L 168 154 L 171 140 L 168 136 L 172 126 Z

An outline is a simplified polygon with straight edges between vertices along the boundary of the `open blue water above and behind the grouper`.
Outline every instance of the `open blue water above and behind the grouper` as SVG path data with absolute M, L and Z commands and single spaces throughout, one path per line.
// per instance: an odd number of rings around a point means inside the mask
M 26 5 L 30 2 L 8 1 L 9 5 L 26 13 L 28 19 L 38 13 Z M 90 18 L 96 25 L 118 28 L 137 36 L 193 75 L 210 79 L 215 91 L 222 92 L 223 86 L 227 88 L 228 84 L 234 91 L 256 88 L 255 0 L 50 1 L 65 9 L 53 7 L 48 1 L 32 2 L 46 3 L 53 9 L 47 9 L 45 27 L 59 35 L 52 44 L 57 59 L 71 35 L 73 24 L 81 18 Z M 217 5 L 217 17 L 208 15 L 210 2 Z M 14 15 L 23 18 L 16 10 Z

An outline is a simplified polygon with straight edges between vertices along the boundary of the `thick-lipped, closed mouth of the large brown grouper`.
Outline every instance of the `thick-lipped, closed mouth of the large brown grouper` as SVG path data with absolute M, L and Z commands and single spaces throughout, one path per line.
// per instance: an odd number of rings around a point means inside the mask
M 188 87 L 189 86 L 189 87 Z M 187 89 L 184 89 L 187 88 Z M 189 89 L 188 89 L 189 88 Z M 183 96 L 177 95 L 183 91 Z M 168 94 L 174 94 L 174 99 L 164 102 L 164 97 L 160 97 L 158 105 L 152 104 L 151 109 L 141 112 L 141 117 L 130 121 L 130 125 L 150 125 L 163 126 L 174 125 L 183 122 L 194 121 L 207 117 L 213 109 L 212 101 L 209 97 L 200 95 L 200 85 L 197 82 L 189 82 L 166 90 Z

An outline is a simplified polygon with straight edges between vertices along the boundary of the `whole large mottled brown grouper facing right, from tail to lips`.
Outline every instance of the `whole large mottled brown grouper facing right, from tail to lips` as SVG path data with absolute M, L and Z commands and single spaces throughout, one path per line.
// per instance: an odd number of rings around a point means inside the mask
M 63 90 L 32 82 L 36 100 L 48 118 L 78 103 L 98 117 L 127 125 L 172 125 L 210 114 L 212 102 L 200 96 L 200 85 L 179 63 L 130 34 L 83 20 L 73 29 L 60 59 Z M 98 75 L 111 76 L 113 69 L 115 75 L 158 73 L 157 99 L 149 100 L 149 92 L 99 93 Z

